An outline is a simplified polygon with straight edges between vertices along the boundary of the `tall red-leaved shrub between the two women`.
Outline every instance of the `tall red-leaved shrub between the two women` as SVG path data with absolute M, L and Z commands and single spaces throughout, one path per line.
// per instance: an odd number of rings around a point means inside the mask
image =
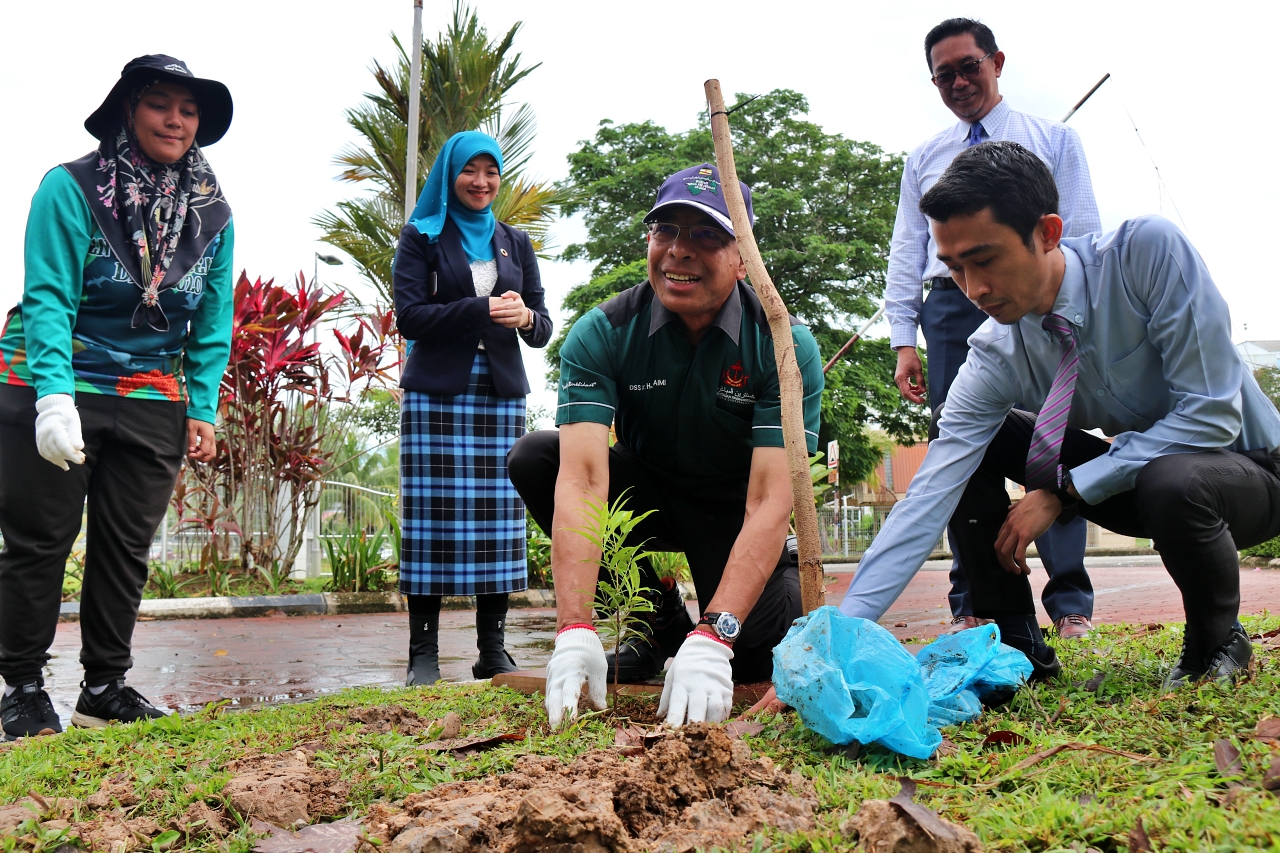
M 218 455 L 187 469 L 174 505 L 179 525 L 206 534 L 202 570 L 238 564 L 279 580 L 297 560 L 351 403 L 388 384 L 398 364 L 396 323 L 381 307 L 346 310 L 346 293 L 323 293 L 302 274 L 288 288 L 241 273 L 234 301 Z M 323 329 L 335 351 L 320 346 Z

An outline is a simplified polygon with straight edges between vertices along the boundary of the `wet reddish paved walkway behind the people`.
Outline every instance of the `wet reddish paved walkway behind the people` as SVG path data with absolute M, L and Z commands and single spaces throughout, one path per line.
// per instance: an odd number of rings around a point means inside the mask
M 1097 592 L 1094 621 L 1180 621 L 1176 587 L 1155 557 L 1087 560 Z M 1033 566 L 1038 562 L 1033 561 Z M 840 566 L 831 566 L 836 570 Z M 929 562 L 881 620 L 900 638 L 933 637 L 950 617 L 950 564 Z M 838 603 L 851 574 L 833 574 L 828 603 Z M 1037 597 L 1043 571 L 1032 573 Z M 1240 571 L 1242 611 L 1280 610 L 1280 571 Z M 692 607 L 692 602 L 690 603 Z M 1041 621 L 1048 617 L 1041 612 Z M 521 666 L 541 666 L 550 656 L 554 611 L 513 610 L 507 648 Z M 209 702 L 237 706 L 288 702 L 355 685 L 403 684 L 408 617 L 266 616 L 260 619 L 140 622 L 133 635 L 129 684 L 157 704 L 192 711 Z M 64 722 L 79 692 L 79 624 L 63 622 L 54 642 L 46 686 Z M 475 613 L 440 615 L 440 670 L 445 679 L 471 678 Z

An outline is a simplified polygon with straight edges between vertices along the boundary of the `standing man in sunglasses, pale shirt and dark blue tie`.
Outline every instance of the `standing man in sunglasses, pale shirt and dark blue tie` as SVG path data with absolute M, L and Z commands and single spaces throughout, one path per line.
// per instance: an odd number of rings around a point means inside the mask
M 942 102 L 957 119 L 918 147 L 902 169 L 902 191 L 893 223 L 884 307 L 890 321 L 890 345 L 897 350 L 893 375 L 899 391 L 910 402 L 924 402 L 934 412 L 929 438 L 937 438 L 937 412 L 947 398 L 956 371 L 969 353 L 969 336 L 987 315 L 970 302 L 937 260 L 929 223 L 920 213 L 920 197 L 937 183 L 957 154 L 980 142 L 1007 140 L 1034 152 L 1057 183 L 1065 237 L 1101 231 L 1093 200 L 1089 165 L 1075 131 L 1060 122 L 1019 113 L 1000 95 L 1005 54 L 991 29 L 969 18 L 951 18 L 929 31 L 924 58 Z M 923 289 L 929 291 L 923 298 Z M 916 328 L 924 332 L 929 356 L 928 383 L 915 350 Z M 1073 517 L 1055 524 L 1036 542 L 1048 571 L 1042 601 L 1059 637 L 1079 639 L 1093 629 L 1093 587 L 1084 570 L 1085 520 Z M 955 534 L 951 535 L 955 540 Z M 951 565 L 952 630 L 973 628 L 969 584 L 960 560 Z

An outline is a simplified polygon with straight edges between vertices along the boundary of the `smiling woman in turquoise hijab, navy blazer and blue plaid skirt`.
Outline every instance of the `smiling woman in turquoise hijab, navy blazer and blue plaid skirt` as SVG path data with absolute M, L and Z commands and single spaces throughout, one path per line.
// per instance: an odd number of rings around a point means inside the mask
M 527 587 L 525 505 L 507 451 L 525 433 L 522 339 L 552 320 L 525 232 L 497 220 L 502 150 L 484 133 L 444 143 L 396 250 L 397 325 L 413 345 L 401 377 L 401 592 L 406 684 L 440 678 L 442 596 L 476 597 L 477 679 L 509 672 L 507 594 Z

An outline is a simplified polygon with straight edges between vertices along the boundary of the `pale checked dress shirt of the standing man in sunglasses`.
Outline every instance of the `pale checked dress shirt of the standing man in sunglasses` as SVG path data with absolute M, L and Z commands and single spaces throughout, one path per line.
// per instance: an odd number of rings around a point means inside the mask
M 1089 181 L 1089 164 L 1075 131 L 1061 122 L 1010 109 L 1006 100 L 996 104 L 978 124 L 982 126 L 984 141 L 1018 142 L 1048 165 L 1057 183 L 1057 213 L 1062 216 L 1064 234 L 1080 237 L 1102 231 L 1098 205 L 1093 200 L 1093 183 Z M 969 147 L 970 128 L 973 124 L 969 122 L 957 122 L 911 151 L 902 167 L 902 188 L 884 283 L 890 346 L 916 345 L 916 328 L 920 325 L 920 309 L 924 305 L 923 283 L 951 275 L 937 259 L 929 220 L 920 213 L 920 196 L 938 182 L 956 155 Z

